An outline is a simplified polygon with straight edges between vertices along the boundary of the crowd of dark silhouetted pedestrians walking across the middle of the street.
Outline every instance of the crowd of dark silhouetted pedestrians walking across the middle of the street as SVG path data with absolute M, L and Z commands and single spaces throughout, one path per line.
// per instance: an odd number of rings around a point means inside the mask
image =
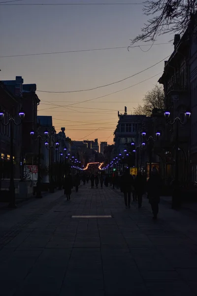
M 113 179 L 114 178 L 114 179 Z M 103 183 L 106 187 L 109 185 L 112 185 L 114 188 L 114 180 L 115 177 L 104 176 L 103 175 L 92 175 L 92 176 L 79 176 L 77 174 L 76 176 L 71 176 L 70 173 L 68 173 L 65 177 L 64 181 L 64 189 L 67 200 L 70 200 L 70 195 L 72 188 L 75 186 L 76 192 L 78 192 L 79 185 L 81 182 L 81 179 L 83 181 L 83 184 L 85 185 L 89 183 L 89 180 L 91 181 L 91 188 L 94 188 L 94 185 L 96 185 L 96 188 L 99 186 L 103 187 Z M 141 172 L 137 173 L 137 176 L 131 176 L 129 170 L 126 170 L 124 174 L 119 177 L 118 185 L 116 184 L 116 188 L 120 188 L 121 192 L 124 193 L 124 200 L 125 200 L 125 207 L 130 208 L 131 207 L 131 193 L 133 201 L 138 202 L 138 208 L 141 208 L 142 206 L 142 196 L 145 192 L 147 192 L 147 197 L 149 199 L 149 203 L 151 204 L 152 211 L 153 211 L 153 218 L 157 219 L 158 211 L 159 211 L 159 202 L 160 202 L 160 193 L 161 193 L 161 187 L 162 187 L 162 181 L 160 179 L 159 173 L 156 168 L 153 168 L 151 172 L 151 176 L 146 181 L 145 176 L 141 174 Z

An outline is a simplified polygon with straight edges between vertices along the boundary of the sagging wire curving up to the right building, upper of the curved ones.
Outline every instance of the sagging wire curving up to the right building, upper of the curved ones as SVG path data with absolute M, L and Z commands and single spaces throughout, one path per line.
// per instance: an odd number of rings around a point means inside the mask
M 161 62 L 163 62 L 165 59 L 167 59 L 170 55 L 168 55 L 167 57 L 165 57 L 164 59 L 162 59 L 161 61 L 157 62 L 156 64 L 138 72 L 138 73 L 135 73 L 135 74 L 132 74 L 131 76 L 128 76 L 128 77 L 125 77 L 121 80 L 118 80 L 118 81 L 115 81 L 115 82 L 111 82 L 111 83 L 108 83 L 108 84 L 104 84 L 104 85 L 100 85 L 100 86 L 97 86 L 97 87 L 93 87 L 93 88 L 88 88 L 88 89 L 79 89 L 79 90 L 72 90 L 72 91 L 46 91 L 46 90 L 37 90 L 38 92 L 45 92 L 45 93 L 74 93 L 74 92 L 83 92 L 83 91 L 90 91 L 90 90 L 95 90 L 95 89 L 98 89 L 98 88 L 102 88 L 102 87 L 106 87 L 106 86 L 109 86 L 109 85 L 113 85 L 113 84 L 117 84 L 117 83 L 120 83 L 122 81 L 125 81 L 131 77 L 134 77 L 138 74 L 141 74 L 153 67 L 155 67 L 156 65 L 160 64 Z M 68 106 L 68 105 L 67 105 Z

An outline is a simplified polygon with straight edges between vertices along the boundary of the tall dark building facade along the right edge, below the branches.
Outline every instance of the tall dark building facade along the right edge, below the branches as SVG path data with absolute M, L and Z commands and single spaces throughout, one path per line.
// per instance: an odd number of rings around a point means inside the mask
M 164 159 L 165 178 L 175 177 L 174 145 L 178 141 L 179 181 L 188 184 L 197 181 L 197 47 L 189 38 L 188 30 L 183 37 L 175 35 L 173 44 L 174 51 L 164 62 L 164 74 L 159 82 L 164 85 L 165 108 L 170 111 L 170 121 L 173 123 L 179 117 L 183 124 L 166 123 L 163 129 L 162 147 L 168 155 Z M 185 111 L 192 111 L 191 120 L 186 119 Z

